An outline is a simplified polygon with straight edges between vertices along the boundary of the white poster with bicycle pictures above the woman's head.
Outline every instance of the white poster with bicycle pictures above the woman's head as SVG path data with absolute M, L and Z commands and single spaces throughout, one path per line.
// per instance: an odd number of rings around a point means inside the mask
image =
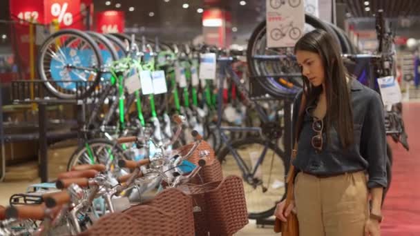
M 304 0 L 267 0 L 267 47 L 293 47 L 305 27 Z

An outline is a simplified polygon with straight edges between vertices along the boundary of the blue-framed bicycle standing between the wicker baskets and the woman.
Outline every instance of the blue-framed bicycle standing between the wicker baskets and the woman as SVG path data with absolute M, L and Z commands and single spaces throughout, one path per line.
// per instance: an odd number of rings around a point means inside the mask
M 218 58 L 218 121 L 210 132 L 217 132 L 220 142 L 225 144 L 218 153 L 224 175 L 238 175 L 244 181 L 249 219 L 269 217 L 274 213 L 276 202 L 285 195 L 288 157 L 285 150 L 278 147 L 283 128 L 278 120 L 271 121 L 256 100 L 250 99 L 249 90 L 231 68 L 233 61 L 236 61 L 233 57 Z M 249 107 L 256 111 L 261 122 L 259 127 L 222 126 L 222 88 L 226 77 L 231 78 Z M 232 141 L 227 132 L 259 135 Z

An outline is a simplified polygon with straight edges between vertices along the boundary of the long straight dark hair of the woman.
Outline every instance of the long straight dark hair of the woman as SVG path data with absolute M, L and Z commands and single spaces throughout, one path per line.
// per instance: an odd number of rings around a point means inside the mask
M 325 70 L 325 95 L 327 97 L 327 114 L 325 128 L 336 128 L 341 144 L 344 148 L 354 142 L 353 115 L 350 101 L 350 86 L 347 86 L 347 70 L 341 59 L 336 40 L 324 30 L 313 30 L 303 35 L 294 48 L 294 52 L 304 50 L 318 53 L 323 61 Z M 313 104 L 321 94 L 323 87 L 314 87 L 309 79 L 303 76 L 303 89 L 307 97 L 307 104 Z M 327 140 L 330 139 L 329 132 Z

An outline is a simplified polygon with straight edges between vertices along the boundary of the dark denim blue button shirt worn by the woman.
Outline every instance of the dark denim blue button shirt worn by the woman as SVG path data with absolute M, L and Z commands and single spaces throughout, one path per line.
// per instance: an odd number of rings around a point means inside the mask
M 294 101 L 293 128 L 296 129 L 298 109 L 303 92 Z M 386 187 L 386 136 L 383 103 L 379 93 L 363 86 L 353 79 L 351 100 L 354 121 L 354 144 L 344 149 L 334 127 L 330 128 L 330 141 L 323 144 L 323 150 L 316 152 L 311 139 L 316 135 L 312 130 L 313 118 L 308 112 L 303 117 L 302 130 L 298 141 L 298 152 L 292 164 L 297 170 L 312 175 L 339 175 L 359 170 L 367 171 L 368 188 Z M 309 106 L 307 104 L 307 106 Z M 307 110 L 307 109 L 305 109 Z M 295 134 L 295 130 L 293 132 Z M 326 140 L 326 134 L 323 133 Z M 294 139 L 293 139 L 294 140 Z

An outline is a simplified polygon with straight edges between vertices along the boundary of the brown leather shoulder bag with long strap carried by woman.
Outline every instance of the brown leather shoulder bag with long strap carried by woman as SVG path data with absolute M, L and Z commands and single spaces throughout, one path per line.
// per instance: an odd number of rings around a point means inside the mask
M 302 95 L 302 101 L 300 102 L 300 108 L 298 113 L 298 121 L 296 124 L 296 134 L 300 131 L 300 126 L 302 124 L 302 114 L 305 110 L 306 99 L 305 94 Z M 296 170 L 292 164 L 292 161 L 296 158 L 297 150 L 298 150 L 298 141 L 297 137 L 295 136 L 296 141 L 294 142 L 294 147 L 292 150 L 292 158 L 290 159 L 290 167 L 289 173 L 287 174 L 287 195 L 285 201 L 285 208 L 290 205 L 290 202 L 294 200 L 294 177 L 296 175 Z M 281 233 L 282 236 L 299 236 L 299 222 L 298 217 L 294 212 L 290 213 L 287 217 L 287 222 L 282 222 L 280 219 L 276 217 L 276 221 L 274 222 L 274 232 Z

